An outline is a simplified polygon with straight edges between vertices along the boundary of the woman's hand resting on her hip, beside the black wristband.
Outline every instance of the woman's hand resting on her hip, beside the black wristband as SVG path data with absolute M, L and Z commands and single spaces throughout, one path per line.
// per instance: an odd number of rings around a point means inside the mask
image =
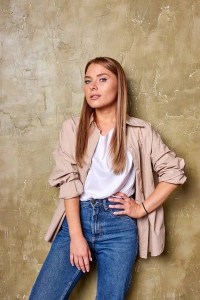
M 123 192 L 116 192 L 114 193 L 115 196 L 120 196 L 121 198 L 112 198 L 109 197 L 111 202 L 118 202 L 119 204 L 109 204 L 110 208 L 121 208 L 124 210 L 121 211 L 114 211 L 114 214 L 127 214 L 130 217 L 133 218 L 140 218 L 142 215 L 141 212 L 141 206 L 138 205 L 135 200 L 131 197 L 129 198 L 125 193 Z

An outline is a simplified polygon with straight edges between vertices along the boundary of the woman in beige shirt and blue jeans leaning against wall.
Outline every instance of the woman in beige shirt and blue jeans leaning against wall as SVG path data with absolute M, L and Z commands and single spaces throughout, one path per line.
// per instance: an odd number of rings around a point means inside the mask
M 163 251 L 161 204 L 186 181 L 183 158 L 149 122 L 126 113 L 126 80 L 116 60 L 87 63 L 84 94 L 81 115 L 63 122 L 52 152 L 48 182 L 60 188 L 59 204 L 30 300 L 68 299 L 94 256 L 96 300 L 124 299 L 137 252 L 146 258 L 147 251 Z

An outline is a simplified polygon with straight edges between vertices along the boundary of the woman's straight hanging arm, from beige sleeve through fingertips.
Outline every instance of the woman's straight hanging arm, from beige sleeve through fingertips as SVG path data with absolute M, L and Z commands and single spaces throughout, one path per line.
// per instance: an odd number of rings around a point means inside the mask
M 48 182 L 60 188 L 59 198 L 64 199 L 70 235 L 70 262 L 84 272 L 85 269 L 89 271 L 91 252 L 80 223 L 79 195 L 83 191 L 83 185 L 70 147 L 70 122 L 71 119 L 67 119 L 62 124 L 59 142 L 52 152 L 55 166 Z

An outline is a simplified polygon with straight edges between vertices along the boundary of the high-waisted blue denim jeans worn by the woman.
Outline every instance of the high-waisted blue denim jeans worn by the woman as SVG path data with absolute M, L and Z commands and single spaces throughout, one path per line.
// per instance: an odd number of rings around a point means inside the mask
M 136 219 L 113 214 L 118 202 L 89 199 L 80 202 L 82 232 L 92 261 L 97 260 L 95 300 L 123 300 L 128 292 L 132 267 L 138 251 Z M 29 300 L 66 300 L 84 274 L 69 259 L 70 236 L 66 217 L 33 284 Z M 91 261 L 89 261 L 91 263 Z

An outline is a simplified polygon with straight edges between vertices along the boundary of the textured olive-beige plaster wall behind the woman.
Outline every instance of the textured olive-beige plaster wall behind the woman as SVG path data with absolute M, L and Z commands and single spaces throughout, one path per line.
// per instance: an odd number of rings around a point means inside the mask
M 117 59 L 129 114 L 183 157 L 188 181 L 164 203 L 164 252 L 137 258 L 127 299 L 199 299 L 198 0 L 0 0 L 0 292 L 27 299 L 58 202 L 47 185 L 62 121 L 79 115 L 86 62 Z M 93 300 L 96 262 L 70 299 Z

